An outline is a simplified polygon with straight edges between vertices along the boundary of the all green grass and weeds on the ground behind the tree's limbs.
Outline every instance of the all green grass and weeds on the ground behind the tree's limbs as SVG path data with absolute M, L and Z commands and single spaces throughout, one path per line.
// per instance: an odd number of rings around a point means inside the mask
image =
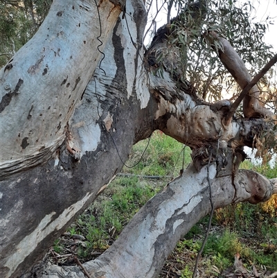
M 183 164 L 186 167 L 191 160 L 189 148 L 184 149 L 183 144 L 161 132 L 154 132 L 145 155 L 141 157 L 147 144 L 148 140 L 145 140 L 133 147 L 127 165 L 139 164 L 134 168 L 123 168 L 123 173 L 176 177 Z M 253 169 L 269 178 L 277 176 L 277 168 L 254 166 L 249 161 L 244 162 L 242 168 Z M 71 236 L 80 234 L 85 238 L 78 241 L 73 249 L 80 261 L 88 261 L 105 251 L 145 202 L 163 189 L 170 177 L 161 180 L 116 177 L 68 229 Z M 199 262 L 199 277 L 220 277 L 222 270 L 233 265 L 237 252 L 248 269 L 255 264 L 256 268 L 265 266 L 268 270 L 277 271 L 276 207 L 277 198 L 274 197 L 262 205 L 240 203 L 217 209 Z M 175 272 L 182 278 L 192 276 L 207 223 L 208 216 L 179 241 L 163 273 Z M 60 238 L 53 244 L 53 250 L 58 254 L 69 252 L 69 241 L 68 237 Z

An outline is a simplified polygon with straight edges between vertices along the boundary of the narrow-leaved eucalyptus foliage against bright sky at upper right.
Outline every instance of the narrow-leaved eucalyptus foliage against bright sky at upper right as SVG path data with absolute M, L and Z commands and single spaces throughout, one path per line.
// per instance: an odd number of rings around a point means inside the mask
M 264 22 L 257 23 L 255 8 L 251 1 L 241 3 L 236 0 L 179 1 L 175 6 L 181 10 L 176 19 L 172 19 L 172 27 L 168 36 L 168 44 L 174 45 L 181 53 L 184 79 L 189 80 L 197 88 L 199 96 L 208 101 L 222 98 L 222 89 L 239 92 L 235 80 L 230 77 L 217 58 L 217 51 L 222 50 L 220 42 L 216 42 L 211 31 L 225 37 L 235 51 L 238 52 L 252 75 L 274 56 L 271 46 L 264 40 L 265 32 L 272 19 L 267 17 Z M 181 5 L 181 8 L 180 8 Z M 195 9 L 200 9 L 195 17 Z M 265 101 L 276 102 L 274 93 L 276 85 L 271 71 L 260 81 L 261 89 L 267 87 Z M 275 105 L 274 105 L 275 107 Z

